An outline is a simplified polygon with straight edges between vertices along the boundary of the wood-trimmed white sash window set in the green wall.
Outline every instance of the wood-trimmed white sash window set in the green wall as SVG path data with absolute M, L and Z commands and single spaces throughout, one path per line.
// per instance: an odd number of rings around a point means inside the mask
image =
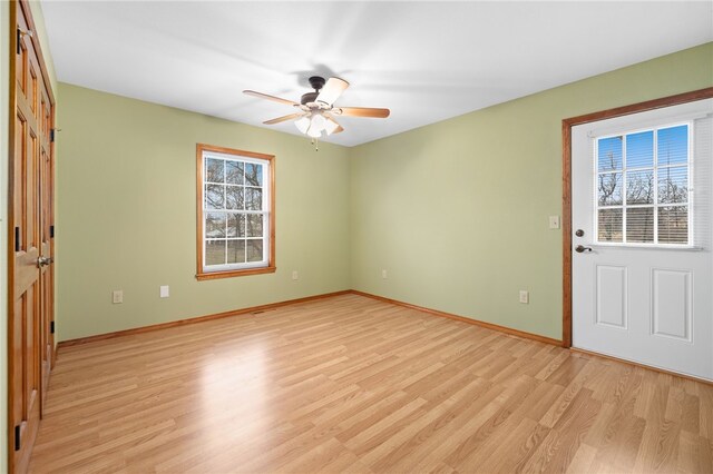
M 198 279 L 275 271 L 274 157 L 197 146 Z

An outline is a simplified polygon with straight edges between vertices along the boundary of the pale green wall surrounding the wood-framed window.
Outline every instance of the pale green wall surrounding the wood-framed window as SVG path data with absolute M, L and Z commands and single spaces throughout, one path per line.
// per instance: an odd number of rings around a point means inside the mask
M 59 340 L 350 287 L 346 148 L 59 89 Z M 276 273 L 195 279 L 197 142 L 275 155 Z

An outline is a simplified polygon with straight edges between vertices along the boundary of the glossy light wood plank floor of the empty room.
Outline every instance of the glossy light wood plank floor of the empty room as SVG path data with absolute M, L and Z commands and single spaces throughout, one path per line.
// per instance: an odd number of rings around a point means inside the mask
M 356 295 L 66 347 L 31 471 L 713 472 L 713 386 Z

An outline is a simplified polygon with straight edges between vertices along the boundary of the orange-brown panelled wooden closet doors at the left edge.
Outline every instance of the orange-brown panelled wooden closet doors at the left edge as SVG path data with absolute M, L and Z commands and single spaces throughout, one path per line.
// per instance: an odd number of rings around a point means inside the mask
M 25 472 L 37 436 L 52 363 L 51 90 L 41 53 L 28 33 L 26 2 L 12 2 L 17 18 L 10 140 L 9 335 L 10 470 Z

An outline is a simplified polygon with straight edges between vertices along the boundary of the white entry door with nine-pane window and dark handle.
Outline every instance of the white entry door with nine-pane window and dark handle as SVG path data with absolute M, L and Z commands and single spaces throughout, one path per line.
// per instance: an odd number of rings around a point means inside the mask
M 713 379 L 712 116 L 573 127 L 574 347 Z

